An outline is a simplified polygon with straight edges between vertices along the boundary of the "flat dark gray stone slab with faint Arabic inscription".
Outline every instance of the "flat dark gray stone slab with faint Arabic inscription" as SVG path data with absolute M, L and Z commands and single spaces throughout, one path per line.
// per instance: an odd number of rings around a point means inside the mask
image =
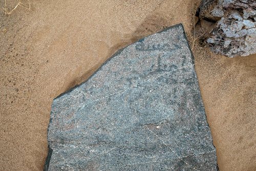
M 217 170 L 183 26 L 127 46 L 54 99 L 46 170 Z

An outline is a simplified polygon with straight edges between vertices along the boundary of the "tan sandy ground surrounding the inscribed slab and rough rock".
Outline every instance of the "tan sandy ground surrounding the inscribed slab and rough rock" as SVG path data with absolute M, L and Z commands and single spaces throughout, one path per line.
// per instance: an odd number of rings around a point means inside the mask
M 200 0 L 32 3 L 0 12 L 0 170 L 42 170 L 52 100 L 140 37 L 183 23 L 192 42 Z M 220 170 L 256 170 L 256 56 L 193 51 Z

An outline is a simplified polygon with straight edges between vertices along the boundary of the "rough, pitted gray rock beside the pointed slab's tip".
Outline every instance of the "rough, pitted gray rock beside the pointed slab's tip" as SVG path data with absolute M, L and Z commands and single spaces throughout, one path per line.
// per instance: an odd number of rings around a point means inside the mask
M 211 50 L 229 57 L 256 53 L 256 1 L 203 0 L 199 18 L 217 22 L 207 37 Z

